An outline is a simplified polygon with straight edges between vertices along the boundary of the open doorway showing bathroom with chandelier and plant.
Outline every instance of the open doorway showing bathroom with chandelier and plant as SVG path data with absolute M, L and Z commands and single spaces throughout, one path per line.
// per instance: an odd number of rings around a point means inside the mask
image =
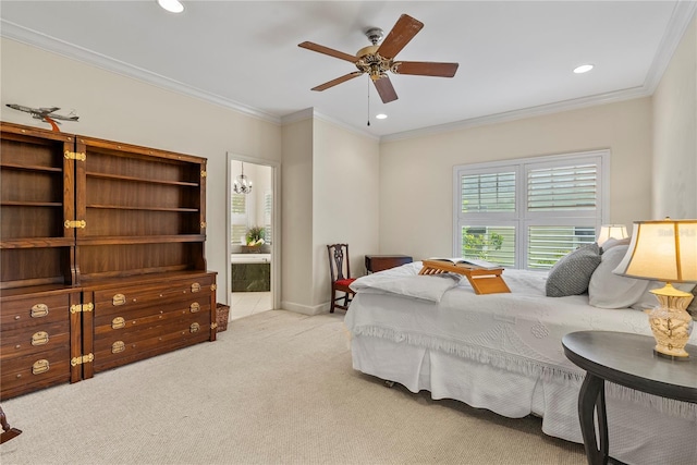
M 230 320 L 279 308 L 280 164 L 228 154 Z

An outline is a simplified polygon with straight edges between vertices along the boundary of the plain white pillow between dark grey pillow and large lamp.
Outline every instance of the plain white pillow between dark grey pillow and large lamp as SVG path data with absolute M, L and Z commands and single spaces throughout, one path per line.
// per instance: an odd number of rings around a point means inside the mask
M 649 286 L 650 281 L 626 278 L 612 272 L 617 268 L 628 248 L 628 245 L 614 245 L 601 255 L 602 260 L 588 284 L 588 303 L 594 307 L 626 308 L 641 298 Z

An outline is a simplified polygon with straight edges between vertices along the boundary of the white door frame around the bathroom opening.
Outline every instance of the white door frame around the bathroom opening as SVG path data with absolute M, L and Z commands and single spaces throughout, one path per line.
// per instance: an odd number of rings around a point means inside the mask
M 232 184 L 232 163 L 241 161 L 243 163 L 258 164 L 261 167 L 271 168 L 271 189 L 272 189 L 272 203 L 271 203 L 271 227 L 273 228 L 273 241 L 271 242 L 271 310 L 281 308 L 281 162 L 276 160 L 268 160 L 265 158 L 248 157 L 241 154 L 234 154 L 232 151 L 227 152 L 228 156 L 228 172 L 225 174 L 225 262 L 228 264 L 225 280 L 225 295 L 228 296 L 228 303 L 232 305 L 232 260 L 230 258 L 232 254 L 232 231 L 230 224 L 232 224 L 232 205 L 231 193 Z

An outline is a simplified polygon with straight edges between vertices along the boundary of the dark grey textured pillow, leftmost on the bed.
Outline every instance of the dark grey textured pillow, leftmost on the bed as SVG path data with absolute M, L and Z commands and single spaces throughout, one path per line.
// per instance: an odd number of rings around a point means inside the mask
M 598 244 L 583 245 L 563 256 L 549 271 L 546 292 L 548 297 L 564 297 L 588 291 L 592 272 L 600 265 Z

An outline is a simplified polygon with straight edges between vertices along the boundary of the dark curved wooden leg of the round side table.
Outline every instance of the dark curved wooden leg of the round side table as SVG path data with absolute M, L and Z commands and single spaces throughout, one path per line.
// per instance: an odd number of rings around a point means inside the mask
M 598 413 L 598 436 L 596 440 L 595 413 Z M 608 464 L 608 418 L 606 415 L 604 380 L 586 374 L 586 379 L 578 393 L 578 418 L 580 432 L 584 437 L 584 448 L 589 465 Z

